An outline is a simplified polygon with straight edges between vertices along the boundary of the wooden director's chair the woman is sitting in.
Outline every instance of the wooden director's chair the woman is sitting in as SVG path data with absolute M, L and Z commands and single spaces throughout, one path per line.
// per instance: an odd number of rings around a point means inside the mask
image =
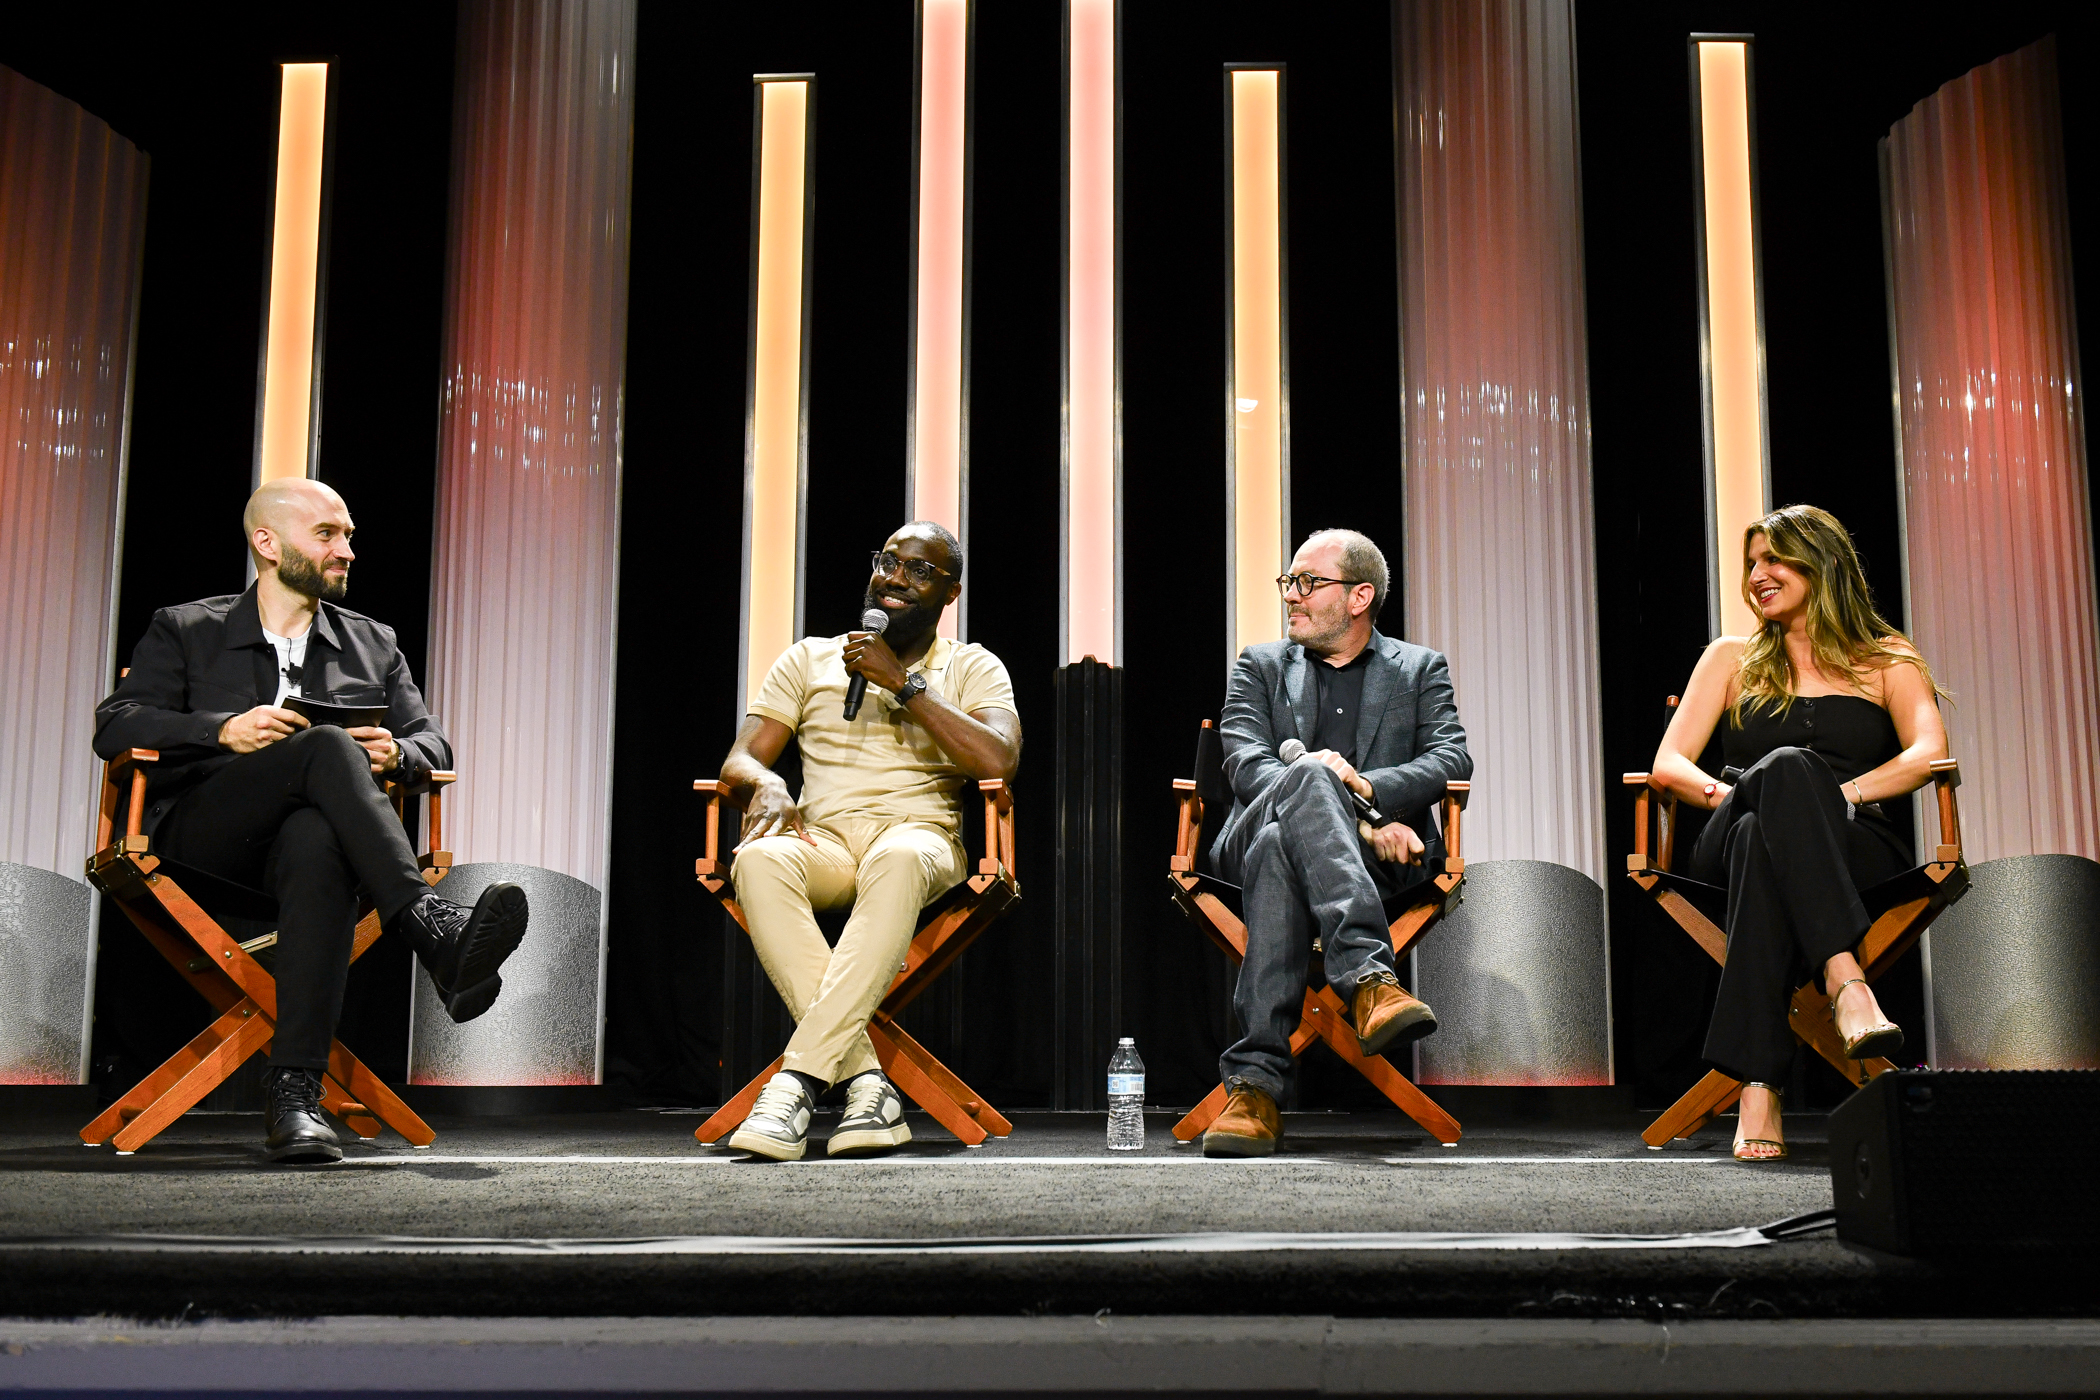
M 1678 697 L 1670 697 L 1670 709 L 1678 707 Z M 1646 772 L 1628 772 L 1619 779 L 1634 789 L 1634 854 L 1625 858 L 1625 875 L 1640 886 L 1663 913 L 1676 919 L 1678 928 L 1690 934 L 1693 942 L 1707 951 L 1716 963 L 1728 959 L 1728 934 L 1720 919 L 1726 917 L 1728 890 L 1722 886 L 1686 879 L 1670 869 L 1678 842 L 1678 798 L 1655 785 Z M 1932 787 L 1940 800 L 1940 844 L 1932 848 L 1932 861 L 1894 879 L 1858 892 L 1861 903 L 1873 924 L 1858 940 L 1854 957 L 1867 980 L 1877 980 L 1896 966 L 1919 934 L 1932 928 L 1940 911 L 1968 894 L 1968 865 L 1961 861 L 1961 816 L 1955 808 L 1955 789 L 1961 787 L 1961 766 L 1951 758 L 1932 762 Z M 1829 1007 L 1829 997 L 1816 991 L 1810 978 L 1787 997 L 1787 1024 L 1819 1056 L 1852 1083 L 1867 1083 L 1896 1068 L 1888 1060 L 1846 1060 L 1844 1037 Z M 1707 1070 L 1663 1117 L 1655 1119 L 1640 1133 L 1651 1148 L 1661 1148 L 1674 1138 L 1690 1138 L 1714 1115 L 1724 1112 L 1743 1085 L 1720 1070 Z

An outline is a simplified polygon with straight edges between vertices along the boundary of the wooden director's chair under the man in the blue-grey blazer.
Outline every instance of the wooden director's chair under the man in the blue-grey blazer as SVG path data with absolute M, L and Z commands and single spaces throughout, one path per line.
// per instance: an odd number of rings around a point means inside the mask
M 1430 865 L 1430 877 L 1403 890 L 1394 903 L 1386 905 L 1390 919 L 1394 966 L 1422 940 L 1422 934 L 1443 915 L 1457 907 L 1460 890 L 1466 884 L 1466 858 L 1460 854 L 1460 812 L 1466 810 L 1466 796 L 1472 783 L 1445 783 L 1443 837 L 1445 856 Z M 1224 949 L 1237 966 L 1247 955 L 1247 926 L 1241 919 L 1239 886 L 1226 884 L 1197 871 L 1208 850 L 1203 825 L 1212 810 L 1222 819 L 1233 810 L 1233 789 L 1224 781 L 1224 743 L 1210 720 L 1197 733 L 1195 777 L 1174 779 L 1174 800 L 1180 806 L 1180 821 L 1174 833 L 1174 861 L 1168 865 L 1174 905 L 1203 930 L 1203 934 Z M 1216 835 L 1216 829 L 1212 829 Z M 1317 949 L 1317 945 L 1315 945 Z M 1342 1056 L 1342 1062 L 1378 1085 L 1378 1091 L 1392 1100 L 1392 1106 L 1420 1123 L 1432 1138 L 1453 1146 L 1460 1136 L 1457 1119 L 1436 1106 L 1428 1094 L 1418 1089 L 1407 1075 L 1392 1068 L 1386 1056 L 1365 1058 L 1357 1049 L 1357 1031 L 1348 1020 L 1342 997 L 1319 978 L 1319 959 L 1312 961 L 1317 987 L 1306 987 L 1304 1014 L 1292 1035 L 1292 1056 L 1302 1056 L 1312 1041 L 1325 1041 Z M 1210 1096 L 1189 1110 L 1174 1125 L 1180 1142 L 1201 1138 L 1203 1131 L 1224 1112 L 1226 1091 L 1218 1085 Z

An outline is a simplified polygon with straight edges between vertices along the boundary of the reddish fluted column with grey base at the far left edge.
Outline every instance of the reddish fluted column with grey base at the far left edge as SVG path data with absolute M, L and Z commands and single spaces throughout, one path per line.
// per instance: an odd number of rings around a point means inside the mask
M 0 67 L 0 1083 L 86 1060 L 145 178 L 130 141 Z

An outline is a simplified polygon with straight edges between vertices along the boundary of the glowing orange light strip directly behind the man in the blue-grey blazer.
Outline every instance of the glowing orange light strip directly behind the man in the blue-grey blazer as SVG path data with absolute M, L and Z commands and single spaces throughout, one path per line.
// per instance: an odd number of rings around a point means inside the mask
M 1277 69 L 1235 69 L 1233 101 L 1233 611 L 1226 665 L 1283 636 L 1275 577 L 1289 563 L 1283 405 L 1283 201 Z

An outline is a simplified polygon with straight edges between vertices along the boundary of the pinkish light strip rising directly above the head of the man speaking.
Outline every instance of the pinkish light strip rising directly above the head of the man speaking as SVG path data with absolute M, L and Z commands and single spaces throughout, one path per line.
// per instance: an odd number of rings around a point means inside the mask
M 918 277 L 911 346 L 911 514 L 962 539 L 962 277 L 968 0 L 920 0 Z M 956 636 L 956 609 L 941 636 Z

